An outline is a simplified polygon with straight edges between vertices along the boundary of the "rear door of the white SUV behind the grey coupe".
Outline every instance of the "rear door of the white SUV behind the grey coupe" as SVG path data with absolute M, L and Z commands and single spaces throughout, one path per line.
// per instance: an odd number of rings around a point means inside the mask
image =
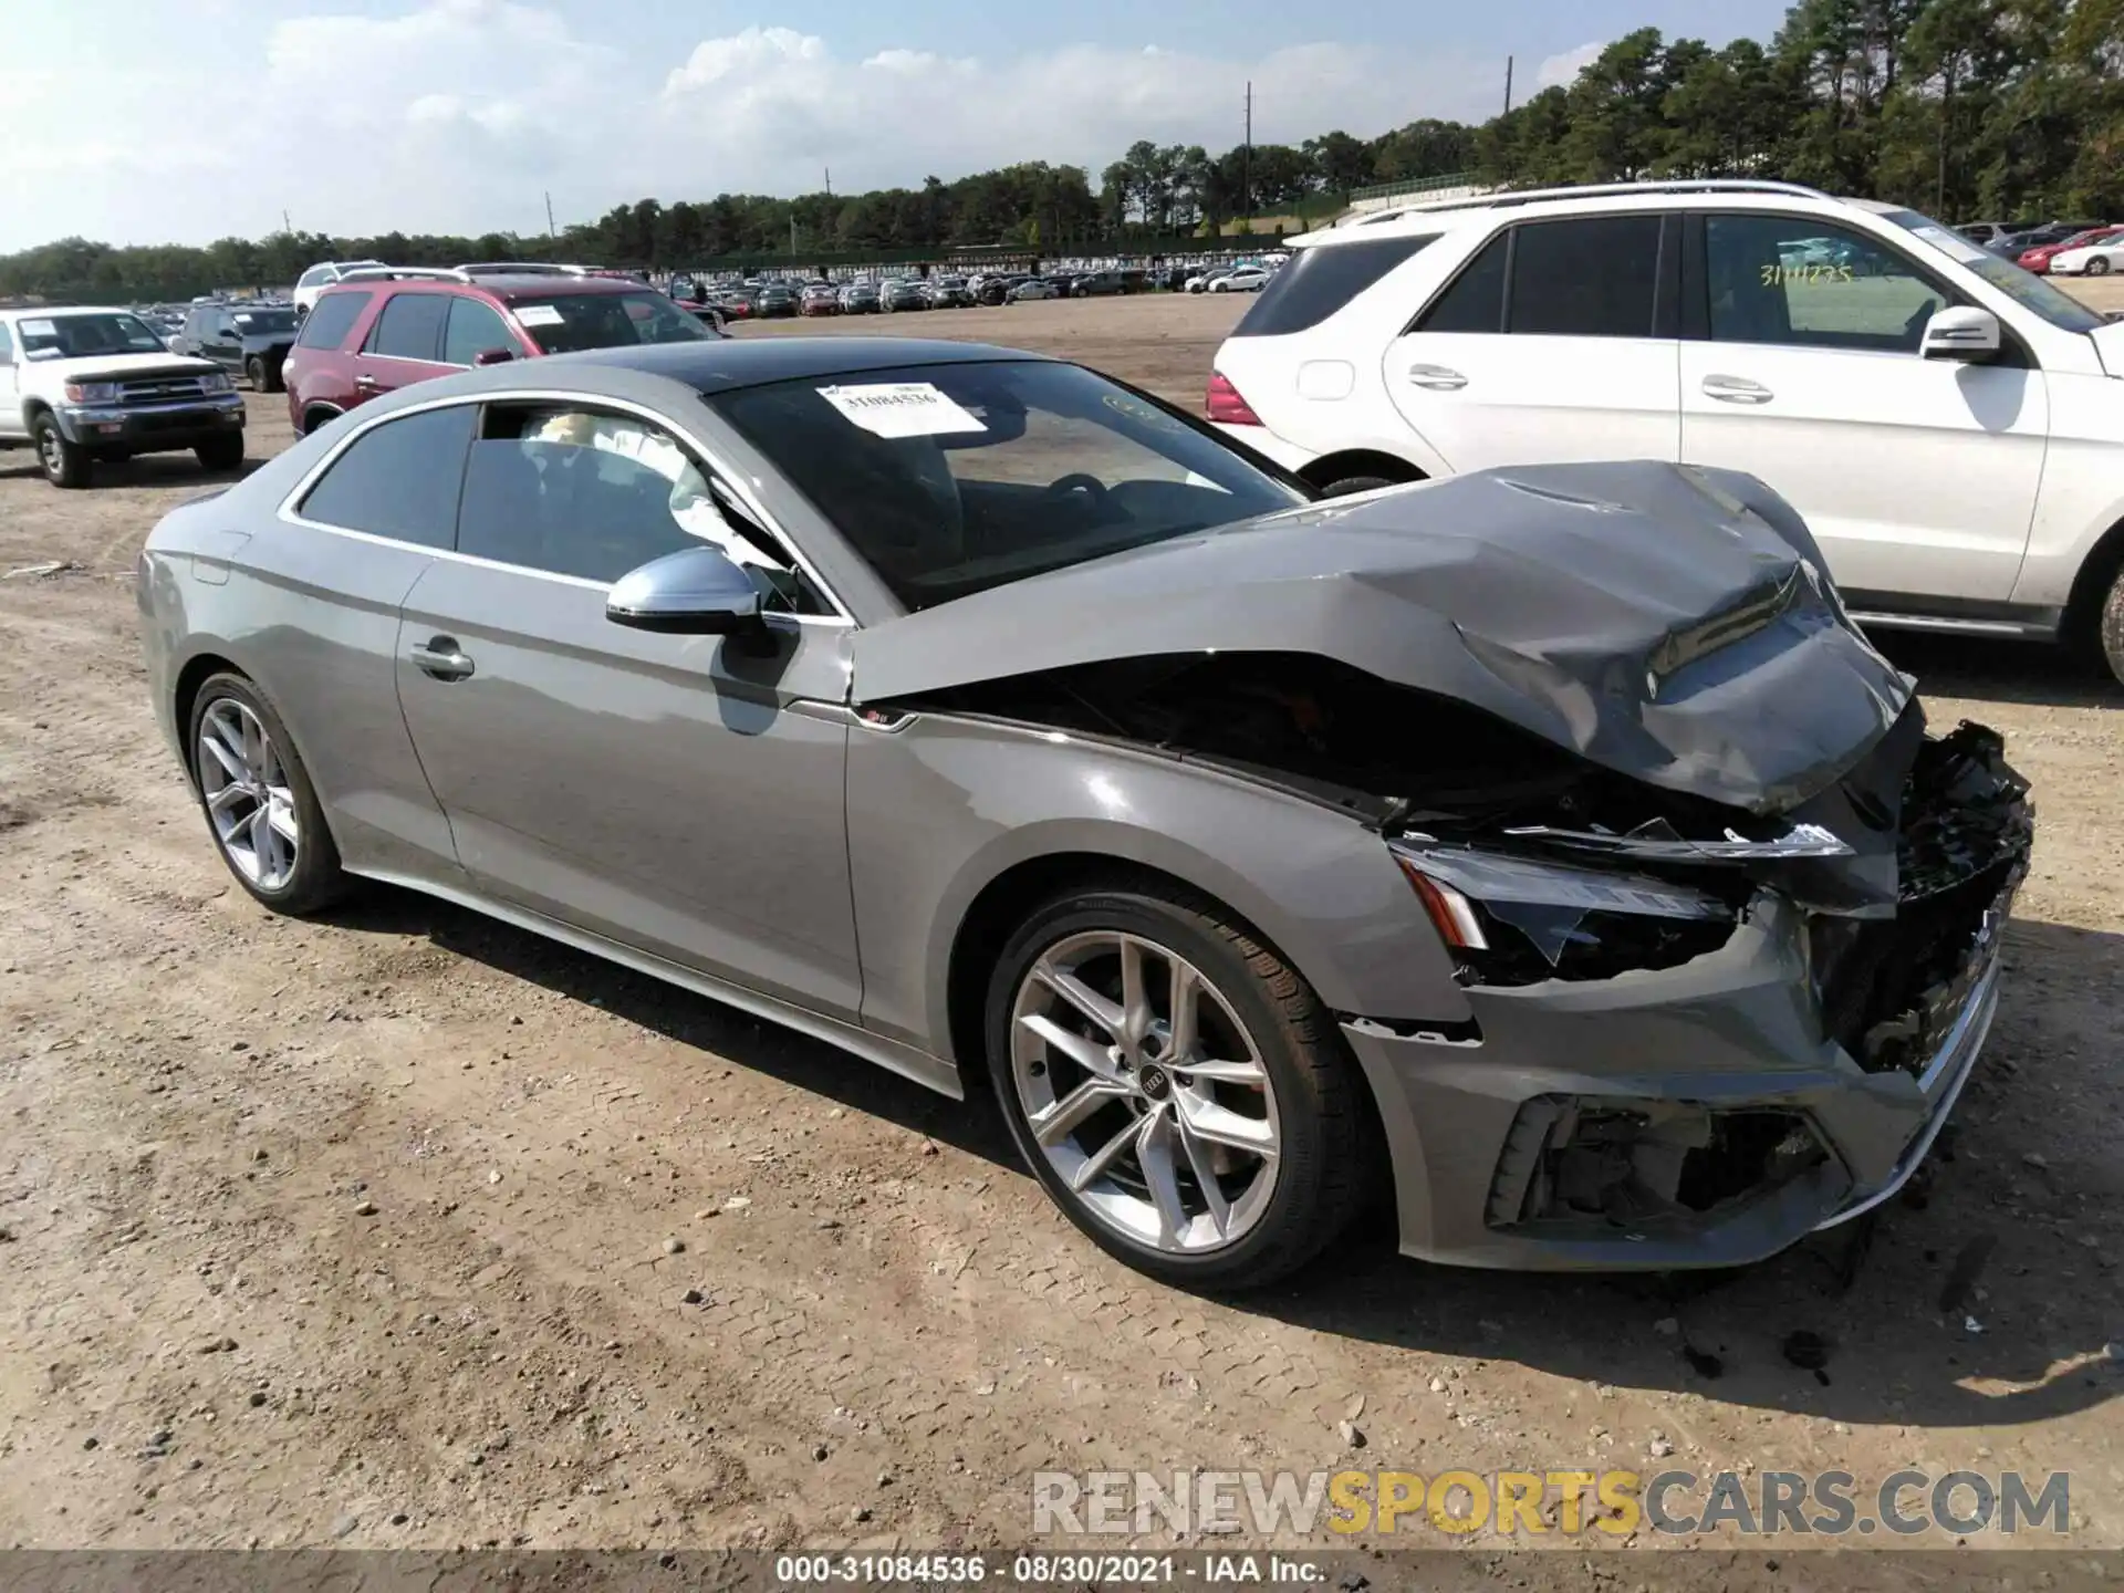
M 1506 227 L 1387 344 L 1395 408 L 1451 472 L 1676 459 L 1678 253 L 1659 215 Z

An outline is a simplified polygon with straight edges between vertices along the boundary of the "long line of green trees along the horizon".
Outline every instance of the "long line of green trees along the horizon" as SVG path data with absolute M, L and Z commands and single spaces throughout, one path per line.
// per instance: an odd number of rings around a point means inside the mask
M 1948 221 L 2124 219 L 2124 0 L 1797 0 L 1765 40 L 1712 49 L 1644 28 L 1568 87 L 1480 125 L 1412 121 L 1219 155 L 1138 140 L 1092 185 L 1026 161 L 920 189 L 637 200 L 559 236 L 221 238 L 204 249 L 64 238 L 0 255 L 0 295 L 151 299 L 285 285 L 319 259 L 404 266 L 582 259 L 688 268 L 1013 244 L 1126 249 L 1257 217 L 1317 217 L 1353 189 L 1468 172 L 1497 185 L 1782 176 Z

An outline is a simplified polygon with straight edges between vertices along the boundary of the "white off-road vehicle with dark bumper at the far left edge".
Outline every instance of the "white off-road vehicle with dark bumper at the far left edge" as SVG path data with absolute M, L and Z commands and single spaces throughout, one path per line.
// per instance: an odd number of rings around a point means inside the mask
M 36 448 L 53 486 L 87 486 L 96 461 L 183 448 L 238 469 L 244 399 L 130 310 L 0 310 L 0 448 Z

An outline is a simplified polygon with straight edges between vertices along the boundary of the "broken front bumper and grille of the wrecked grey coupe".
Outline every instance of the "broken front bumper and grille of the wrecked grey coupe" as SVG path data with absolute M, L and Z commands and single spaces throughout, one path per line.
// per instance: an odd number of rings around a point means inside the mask
M 1890 1200 L 1977 1066 L 2033 809 L 1999 737 L 1963 726 L 1916 748 L 1888 833 L 1850 839 L 1848 875 L 1878 886 L 1892 858 L 1886 901 L 1825 860 L 1765 864 L 1716 949 L 1470 979 L 1463 1024 L 1347 1017 L 1404 1253 L 1735 1266 Z

